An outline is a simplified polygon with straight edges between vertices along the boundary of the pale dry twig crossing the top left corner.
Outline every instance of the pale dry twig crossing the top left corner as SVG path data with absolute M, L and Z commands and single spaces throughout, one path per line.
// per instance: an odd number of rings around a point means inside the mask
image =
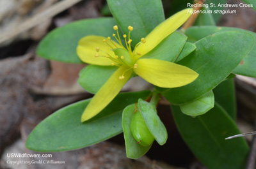
M 20 33 L 23 33 L 24 31 L 28 31 L 28 29 L 31 29 L 32 27 L 37 26 L 38 24 L 41 24 L 42 22 L 48 20 L 49 18 L 54 17 L 54 15 L 57 15 L 63 10 L 66 10 L 67 8 L 70 8 L 74 4 L 78 3 L 82 0 L 63 0 L 60 1 L 53 6 L 49 7 L 47 10 L 42 11 L 41 13 L 36 14 L 35 16 L 29 18 L 19 26 L 13 27 L 13 29 L 10 29 L 10 31 L 6 31 L 3 34 L 0 34 L 0 43 L 3 43 L 3 41 L 9 40 L 10 38 L 13 38 Z

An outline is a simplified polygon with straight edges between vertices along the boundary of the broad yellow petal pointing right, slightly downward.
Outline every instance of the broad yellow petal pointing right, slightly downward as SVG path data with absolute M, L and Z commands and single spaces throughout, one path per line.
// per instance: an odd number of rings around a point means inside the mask
M 198 74 L 179 64 L 158 59 L 139 59 L 134 69 L 140 77 L 159 87 L 180 87 L 190 84 Z

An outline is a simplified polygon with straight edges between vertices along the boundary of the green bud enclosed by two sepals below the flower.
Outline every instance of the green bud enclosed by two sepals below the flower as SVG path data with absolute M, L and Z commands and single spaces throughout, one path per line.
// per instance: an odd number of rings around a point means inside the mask
M 132 104 L 124 109 L 122 126 L 127 158 L 138 159 L 150 149 L 154 140 L 160 145 L 167 140 L 167 131 L 156 107 L 143 99 L 139 99 L 138 105 Z

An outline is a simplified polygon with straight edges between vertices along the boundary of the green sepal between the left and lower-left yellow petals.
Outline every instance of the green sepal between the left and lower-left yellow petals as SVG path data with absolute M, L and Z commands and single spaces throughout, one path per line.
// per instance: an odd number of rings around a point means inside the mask
M 86 91 L 95 94 L 117 69 L 116 66 L 86 66 L 79 73 L 78 83 Z

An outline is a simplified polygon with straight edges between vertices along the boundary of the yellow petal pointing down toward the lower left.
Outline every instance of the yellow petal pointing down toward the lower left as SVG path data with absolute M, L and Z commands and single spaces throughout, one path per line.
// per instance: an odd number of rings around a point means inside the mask
M 108 79 L 108 81 L 102 85 L 99 91 L 93 96 L 92 100 L 86 107 L 81 117 L 81 121 L 87 121 L 95 115 L 99 114 L 121 91 L 122 87 L 129 80 L 132 75 L 132 69 L 125 71 L 129 68 L 122 66 L 113 73 L 113 75 Z M 125 71 L 125 73 L 124 73 Z M 124 79 L 120 80 L 119 77 L 122 77 L 124 73 Z

